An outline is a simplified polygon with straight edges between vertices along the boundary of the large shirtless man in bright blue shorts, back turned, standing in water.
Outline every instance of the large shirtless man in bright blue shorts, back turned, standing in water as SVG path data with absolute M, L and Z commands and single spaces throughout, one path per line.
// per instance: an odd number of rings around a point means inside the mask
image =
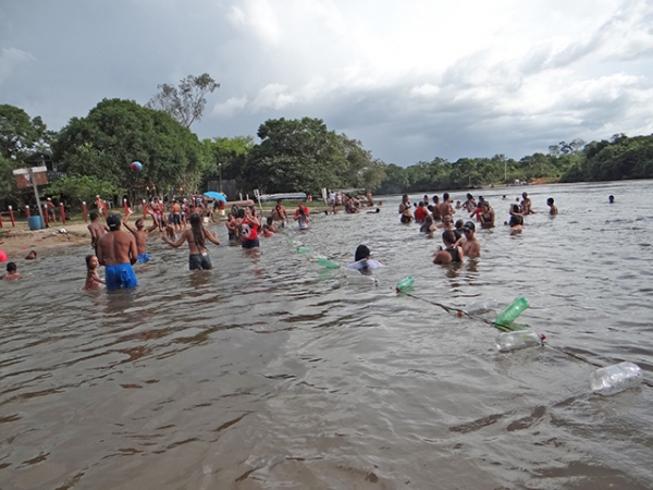
M 104 266 L 107 291 L 121 287 L 128 289 L 138 285 L 132 265 L 136 264 L 138 252 L 136 241 L 120 229 L 121 216 L 111 215 L 107 218 L 109 233 L 98 242 L 97 256 L 100 266 Z

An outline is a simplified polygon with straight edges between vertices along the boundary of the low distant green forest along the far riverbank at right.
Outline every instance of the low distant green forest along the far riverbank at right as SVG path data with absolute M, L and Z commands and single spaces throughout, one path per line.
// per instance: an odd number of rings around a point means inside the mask
M 495 155 L 492 158 L 460 158 L 449 162 L 435 158 L 402 168 L 385 167 L 379 194 L 431 189 L 460 189 L 480 185 L 523 182 L 593 182 L 653 177 L 653 135 L 628 137 L 616 134 L 609 140 L 586 144 L 581 139 L 560 142 L 547 154 L 537 152 L 519 161 Z

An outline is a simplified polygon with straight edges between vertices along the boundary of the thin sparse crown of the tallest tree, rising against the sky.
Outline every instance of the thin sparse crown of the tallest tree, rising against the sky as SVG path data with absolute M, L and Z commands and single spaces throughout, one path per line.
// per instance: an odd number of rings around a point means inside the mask
M 190 127 L 204 114 L 206 95 L 220 88 L 220 84 L 211 75 L 204 73 L 199 76 L 186 76 L 178 87 L 161 84 L 157 88 L 161 91 L 152 97 L 146 107 L 168 112 L 181 124 Z

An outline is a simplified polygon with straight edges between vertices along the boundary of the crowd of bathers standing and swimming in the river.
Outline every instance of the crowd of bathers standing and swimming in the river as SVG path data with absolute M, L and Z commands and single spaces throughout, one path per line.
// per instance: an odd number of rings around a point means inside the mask
M 368 194 L 367 197 L 370 199 L 366 198 L 365 204 L 373 206 L 371 195 Z M 435 232 L 442 232 L 444 246 L 440 246 L 433 254 L 434 264 L 452 264 L 461 261 L 464 257 L 480 257 L 481 244 L 476 237 L 477 225 L 481 229 L 495 226 L 496 213 L 490 203 L 482 196 L 476 199 L 471 194 L 467 194 L 464 203 L 457 201 L 455 206 L 448 193 L 444 193 L 442 199 L 438 195 L 431 199 L 424 195 L 422 200 L 412 205 L 407 194 L 402 198 L 398 208 L 402 223 L 419 223 L 420 232 L 430 237 Z M 504 195 L 502 199 L 507 200 L 507 197 Z M 609 196 L 608 201 L 614 203 L 614 196 Z M 360 206 L 360 201 L 350 196 L 342 196 L 340 204 L 345 208 L 348 205 L 353 209 L 358 209 Z M 546 199 L 546 205 L 551 216 L 557 215 L 558 210 L 552 197 Z M 336 207 L 335 203 L 333 203 L 333 207 Z M 215 201 L 211 209 L 205 196 L 194 195 L 190 200 L 185 198 L 182 201 L 172 199 L 169 213 L 165 215 L 162 200 L 155 197 L 144 211 L 152 217 L 152 224 L 149 228 L 146 228 L 144 218 L 138 218 L 134 225 L 130 224 L 130 218 L 134 215 L 131 208 L 127 208 L 124 218 L 118 213 L 108 215 L 106 203 L 99 199 L 99 196 L 96 200 L 96 208 L 97 210 L 90 213 L 91 222 L 88 225 L 90 244 L 95 254 L 86 256 L 85 290 L 95 290 L 101 284 L 106 284 L 109 291 L 136 286 L 138 281 L 132 266 L 150 260 L 147 253 L 147 240 L 156 230 L 162 232 L 161 238 L 172 247 L 178 248 L 187 243 L 190 270 L 212 268 L 207 242 L 220 245 L 220 241 L 218 234 L 209 232 L 204 224 L 209 220 L 214 221 L 214 211 L 224 208 L 222 201 Z M 458 219 L 454 222 L 454 215 L 458 211 L 469 215 L 468 219 Z M 379 208 L 377 211 L 368 212 L 379 212 Z M 509 219 L 504 222 L 504 225 L 509 226 L 513 234 L 520 233 L 523 230 L 525 217 L 534 212 L 531 199 L 525 192 L 521 194 L 521 199 L 517 198 L 514 204 L 509 205 Z M 106 222 L 101 222 L 100 217 L 106 217 Z M 282 199 L 279 199 L 270 216 L 264 220 L 262 213 L 257 213 L 255 206 L 233 205 L 226 217 L 225 226 L 231 243 L 241 244 L 243 248 L 250 249 L 260 246 L 259 237 L 273 236 L 280 229 L 287 226 L 291 221 L 296 221 L 299 230 L 309 228 L 310 210 L 303 201 L 297 204 L 294 215 L 289 217 Z M 122 232 L 123 226 L 128 233 Z M 355 262 L 347 267 L 365 271 L 381 267 L 380 262 L 370 259 L 369 254 L 369 249 L 365 245 L 359 246 L 356 250 Z M 35 259 L 36 252 L 29 252 L 25 258 Z M 98 274 L 100 266 L 104 267 L 104 279 Z M 22 278 L 15 262 L 9 262 L 7 273 L 0 277 L 7 281 Z

